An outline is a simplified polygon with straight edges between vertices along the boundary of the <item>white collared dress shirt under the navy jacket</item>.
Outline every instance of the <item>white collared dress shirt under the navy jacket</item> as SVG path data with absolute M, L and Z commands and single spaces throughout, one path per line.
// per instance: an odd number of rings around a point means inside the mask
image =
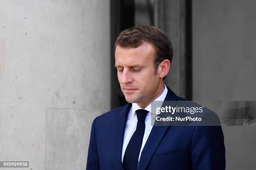
M 166 86 L 164 85 L 164 92 L 162 92 L 162 94 L 159 97 L 157 97 L 154 101 L 164 101 L 167 92 L 168 92 L 168 90 L 167 90 Z M 123 162 L 123 156 L 124 156 L 125 150 L 127 148 L 127 145 L 129 143 L 133 133 L 136 130 L 138 119 L 137 119 L 137 115 L 135 114 L 135 111 L 138 109 L 142 109 L 142 108 L 137 103 L 133 103 L 132 107 L 128 113 L 128 117 L 127 117 L 127 121 L 126 121 L 126 125 L 125 125 L 124 137 L 123 137 L 122 162 Z M 153 126 L 151 125 L 151 117 L 150 117 L 151 103 L 147 107 L 145 107 L 145 110 L 148 111 L 148 114 L 145 119 L 145 133 L 143 136 L 140 155 L 139 155 L 138 160 L 140 160 L 140 158 L 141 158 L 141 151 L 143 150 L 144 145 L 148 139 L 148 136 L 153 128 Z

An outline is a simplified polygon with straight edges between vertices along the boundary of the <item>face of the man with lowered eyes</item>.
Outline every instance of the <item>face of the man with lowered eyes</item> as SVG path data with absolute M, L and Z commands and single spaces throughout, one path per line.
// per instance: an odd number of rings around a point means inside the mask
M 160 78 L 154 70 L 155 52 L 148 42 L 137 48 L 116 47 L 115 67 L 127 102 L 147 103 L 158 95 Z

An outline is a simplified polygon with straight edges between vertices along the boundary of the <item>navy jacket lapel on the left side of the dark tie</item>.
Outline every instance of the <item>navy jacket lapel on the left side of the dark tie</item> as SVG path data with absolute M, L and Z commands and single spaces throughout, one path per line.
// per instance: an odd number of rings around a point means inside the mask
M 117 123 L 113 124 L 113 141 L 112 141 L 112 156 L 114 167 L 116 170 L 123 170 L 122 165 L 122 148 L 123 148 L 123 135 L 127 120 L 128 112 L 131 108 L 131 103 L 125 105 L 123 110 L 118 113 L 119 119 Z

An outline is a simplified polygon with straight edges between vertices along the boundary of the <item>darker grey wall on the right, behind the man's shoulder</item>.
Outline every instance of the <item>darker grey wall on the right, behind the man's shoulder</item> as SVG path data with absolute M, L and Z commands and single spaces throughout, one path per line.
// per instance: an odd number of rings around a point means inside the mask
M 195 0 L 193 100 L 256 100 L 256 1 Z M 223 126 L 227 170 L 255 169 L 256 127 Z

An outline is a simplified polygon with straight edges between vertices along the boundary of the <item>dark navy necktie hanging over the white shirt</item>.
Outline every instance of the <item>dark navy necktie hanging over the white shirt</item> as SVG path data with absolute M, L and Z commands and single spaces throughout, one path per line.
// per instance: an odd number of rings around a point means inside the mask
M 147 110 L 136 110 L 136 115 L 138 118 L 137 127 L 127 145 L 125 154 L 123 156 L 123 168 L 125 170 L 137 169 L 138 157 L 140 155 L 142 140 L 145 132 L 145 119 L 147 114 Z

